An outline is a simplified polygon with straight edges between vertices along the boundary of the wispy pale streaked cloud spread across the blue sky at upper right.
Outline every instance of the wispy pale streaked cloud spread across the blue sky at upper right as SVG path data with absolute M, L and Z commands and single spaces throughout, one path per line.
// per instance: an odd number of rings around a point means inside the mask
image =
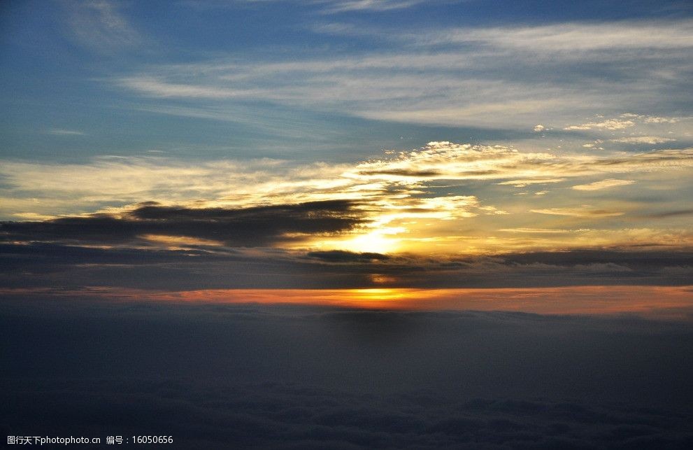
M 328 10 L 372 11 L 415 3 L 322 4 Z M 649 35 L 657 38 L 643 38 L 643 29 L 658 30 Z M 144 97 L 215 105 L 255 99 L 427 125 L 617 130 L 630 127 L 632 120 L 581 125 L 576 120 L 594 113 L 642 111 L 653 96 L 680 95 L 691 29 L 687 20 L 431 27 L 415 33 L 350 22 L 318 24 L 311 31 L 361 33 L 389 44 L 387 50 L 359 57 L 319 54 L 300 61 L 250 61 L 230 55 L 196 64 L 149 66 L 114 76 L 112 82 Z M 594 104 L 605 110 L 594 111 Z M 655 120 L 660 115 L 640 116 L 650 125 L 674 123 Z M 678 128 L 676 132 L 683 133 Z

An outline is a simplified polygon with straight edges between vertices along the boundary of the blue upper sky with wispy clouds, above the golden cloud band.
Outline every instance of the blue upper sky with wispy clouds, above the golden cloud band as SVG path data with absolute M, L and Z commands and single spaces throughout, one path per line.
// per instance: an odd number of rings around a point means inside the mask
M 579 139 L 561 129 L 690 114 L 691 13 L 685 1 L 10 1 L 3 157 L 345 161 L 526 141 L 539 124 Z M 681 128 L 676 146 L 691 141 Z

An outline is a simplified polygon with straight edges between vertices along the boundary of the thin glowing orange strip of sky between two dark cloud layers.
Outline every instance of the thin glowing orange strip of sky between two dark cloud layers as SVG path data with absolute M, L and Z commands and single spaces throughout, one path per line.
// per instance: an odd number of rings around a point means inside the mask
M 94 287 L 78 291 L 3 290 L 126 301 L 303 304 L 356 309 L 513 311 L 534 314 L 639 314 L 685 318 L 693 286 L 570 286 L 553 288 L 207 289 L 150 291 Z

